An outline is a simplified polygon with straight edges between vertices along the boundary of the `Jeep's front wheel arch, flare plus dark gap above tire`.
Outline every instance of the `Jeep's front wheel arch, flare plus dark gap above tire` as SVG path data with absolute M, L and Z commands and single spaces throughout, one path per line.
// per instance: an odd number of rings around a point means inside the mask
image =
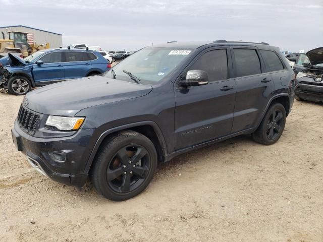
M 102 143 L 109 139 L 110 137 L 116 135 L 117 133 L 125 130 L 132 130 L 136 131 L 144 136 L 146 136 L 151 142 L 154 144 L 157 152 L 157 158 L 158 162 L 163 162 L 165 160 L 165 156 L 167 155 L 167 147 L 165 143 L 165 139 L 163 136 L 163 133 L 161 133 L 159 127 L 157 126 L 156 123 L 152 121 L 146 121 L 146 122 L 138 122 L 138 123 L 133 123 L 133 124 L 128 124 L 128 125 L 123 125 L 120 127 L 115 127 L 110 130 L 104 131 L 96 141 L 92 152 L 90 154 L 90 157 L 87 161 L 84 173 L 87 174 L 89 173 L 93 161 L 95 159 L 95 156 L 97 154 L 97 151 L 99 147 L 102 145 Z

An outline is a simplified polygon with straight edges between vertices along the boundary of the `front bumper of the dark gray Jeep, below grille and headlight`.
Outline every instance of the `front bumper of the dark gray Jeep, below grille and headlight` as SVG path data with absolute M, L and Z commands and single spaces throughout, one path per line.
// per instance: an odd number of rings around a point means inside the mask
M 22 131 L 17 121 L 12 129 L 16 148 L 27 156 L 36 170 L 52 180 L 77 188 L 83 187 L 88 177 L 88 174 L 84 174 L 87 160 L 83 157 L 86 157 L 84 153 L 92 134 L 91 129 L 81 129 L 69 137 L 37 138 Z M 63 152 L 66 159 L 57 162 L 49 152 Z

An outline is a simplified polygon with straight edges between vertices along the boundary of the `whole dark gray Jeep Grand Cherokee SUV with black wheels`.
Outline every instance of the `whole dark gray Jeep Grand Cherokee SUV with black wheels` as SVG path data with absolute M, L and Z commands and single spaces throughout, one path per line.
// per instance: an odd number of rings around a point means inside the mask
M 89 177 L 104 197 L 126 200 L 176 155 L 242 134 L 278 141 L 294 79 L 266 43 L 154 45 L 101 76 L 31 91 L 12 136 L 51 179 L 80 188 Z

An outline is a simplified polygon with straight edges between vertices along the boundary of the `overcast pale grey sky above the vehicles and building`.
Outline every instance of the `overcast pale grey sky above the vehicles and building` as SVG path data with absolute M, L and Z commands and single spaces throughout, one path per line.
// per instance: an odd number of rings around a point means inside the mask
M 63 44 L 137 50 L 152 43 L 264 41 L 283 50 L 323 46 L 323 0 L 0 0 L 0 26 L 63 34 Z

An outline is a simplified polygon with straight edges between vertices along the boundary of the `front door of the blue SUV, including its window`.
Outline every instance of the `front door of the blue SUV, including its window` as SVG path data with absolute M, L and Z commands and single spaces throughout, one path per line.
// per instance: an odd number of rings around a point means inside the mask
M 46 81 L 63 81 L 64 80 L 64 63 L 62 63 L 62 52 L 50 52 L 39 60 L 43 61 L 42 65 L 33 65 L 33 76 L 35 83 Z

